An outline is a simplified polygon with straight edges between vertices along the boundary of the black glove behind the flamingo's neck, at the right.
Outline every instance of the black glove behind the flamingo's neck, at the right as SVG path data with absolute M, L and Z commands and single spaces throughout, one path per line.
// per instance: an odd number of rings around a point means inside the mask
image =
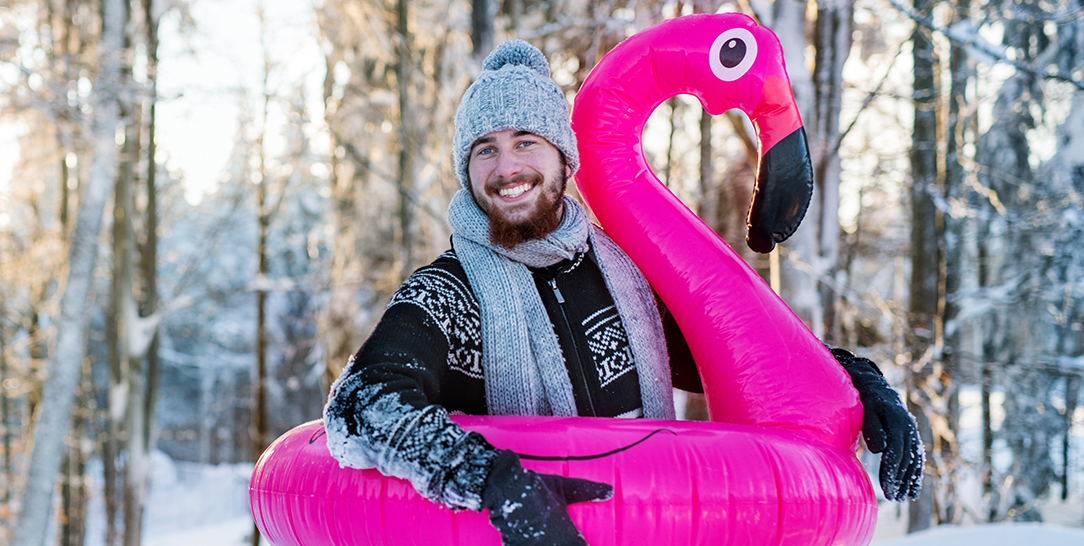
M 926 448 L 915 417 L 873 361 L 842 349 L 831 349 L 831 355 L 842 364 L 859 391 L 866 447 L 874 453 L 883 452 L 879 478 L 885 498 L 901 502 L 918 498 Z

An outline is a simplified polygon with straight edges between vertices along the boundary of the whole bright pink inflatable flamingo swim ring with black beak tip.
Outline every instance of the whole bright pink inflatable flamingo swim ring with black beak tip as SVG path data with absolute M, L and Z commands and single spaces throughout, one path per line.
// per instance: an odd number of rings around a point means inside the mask
M 671 20 L 603 57 L 576 96 L 577 184 L 688 340 L 711 422 L 463 416 L 544 473 L 612 484 L 568 507 L 593 546 L 868 544 L 877 504 L 854 456 L 862 407 L 846 373 L 734 251 L 647 166 L 647 117 L 676 94 L 740 108 L 762 155 L 749 244 L 797 227 L 812 186 L 777 38 L 737 14 Z M 340 468 L 323 424 L 276 440 L 249 487 L 263 536 L 285 545 L 499 545 L 486 514 L 452 511 L 410 483 Z

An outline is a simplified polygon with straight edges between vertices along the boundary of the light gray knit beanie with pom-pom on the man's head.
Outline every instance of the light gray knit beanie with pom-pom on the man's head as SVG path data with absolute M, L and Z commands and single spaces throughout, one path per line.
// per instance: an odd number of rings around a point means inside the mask
M 486 134 L 505 129 L 542 136 L 565 154 L 572 173 L 580 168 L 568 101 L 550 78 L 545 55 L 522 40 L 508 40 L 486 57 L 481 75 L 463 93 L 455 112 L 452 154 L 463 187 L 470 188 L 470 146 Z

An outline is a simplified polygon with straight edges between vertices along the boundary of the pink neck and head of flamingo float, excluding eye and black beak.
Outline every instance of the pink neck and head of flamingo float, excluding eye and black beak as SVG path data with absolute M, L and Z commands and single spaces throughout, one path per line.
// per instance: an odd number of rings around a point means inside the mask
M 756 39 L 757 58 L 744 76 L 723 81 L 709 51 L 735 29 Z M 843 369 L 644 158 L 647 117 L 680 93 L 699 98 L 711 114 L 746 112 L 761 154 L 801 126 L 771 30 L 733 13 L 671 20 L 610 51 L 576 95 L 580 193 L 673 312 L 704 379 L 711 420 L 786 428 L 853 447 L 862 411 Z

